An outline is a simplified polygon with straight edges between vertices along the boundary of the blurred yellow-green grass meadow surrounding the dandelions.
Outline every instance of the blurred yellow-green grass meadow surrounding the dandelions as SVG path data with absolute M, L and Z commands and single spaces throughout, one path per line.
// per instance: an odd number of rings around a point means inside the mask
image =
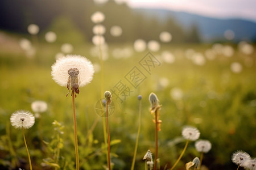
M 16 43 L 18 39 L 12 38 L 10 41 L 12 43 L 6 42 L 0 46 L 0 169 L 28 169 L 22 130 L 10 125 L 10 116 L 19 109 L 31 111 L 31 103 L 35 100 L 46 101 L 48 109 L 41 114 L 40 120 L 36 118 L 32 128 L 25 131 L 33 169 L 54 169 L 47 167 L 46 163 L 51 162 L 49 158 L 53 158 L 56 147 L 60 148 L 60 167 L 75 169 L 72 97 L 66 97 L 67 88 L 60 87 L 51 76 L 51 65 L 55 62 L 55 54 L 60 52 L 60 45 L 40 43 L 35 56 L 28 58 Z M 204 155 L 203 160 L 203 165 L 208 169 L 237 168 L 231 161 L 232 153 L 237 150 L 256 156 L 256 51 L 246 55 L 237 45 L 224 45 L 233 47 L 232 57 L 216 54 L 212 60 L 205 58 L 204 65 L 196 65 L 185 52 L 193 49 L 204 54 L 205 50 L 212 48 L 212 44 L 162 44 L 159 52 L 151 53 L 159 59 L 160 64 L 152 67 L 150 73 L 139 65 L 148 50 L 140 53 L 132 50 L 131 56 L 116 59 L 112 57 L 114 49 L 126 46 L 133 49 L 133 44 L 109 45 L 109 58 L 104 61 L 103 69 L 104 92 L 113 89 L 119 80 L 131 90 L 123 102 L 113 95 L 115 111 L 109 117 L 109 128 L 113 141 L 111 155 L 114 169 L 131 167 L 139 125 L 138 95 L 142 95 L 142 126 L 135 169 L 144 169 L 142 159 L 148 149 L 154 158 L 155 126 L 148 102 L 151 92 L 158 96 L 162 105 L 162 130 L 158 133 L 161 169 L 170 169 L 179 157 L 185 145 L 181 131 L 187 125 L 199 129 L 200 139 L 212 143 L 212 149 Z M 92 63 L 99 64 L 100 59 L 92 56 L 90 48 L 90 44 L 74 45 L 72 54 L 80 54 Z M 163 61 L 161 54 L 164 50 L 174 54 L 174 63 Z M 240 73 L 230 69 L 233 62 L 241 63 Z M 125 78 L 134 66 L 146 76 L 137 88 Z M 102 96 L 100 76 L 100 72 L 95 73 L 92 82 L 81 87 L 76 98 L 81 169 L 104 169 L 106 165 L 102 130 L 102 121 L 105 119 L 95 111 L 96 103 Z M 55 120 L 64 126 L 61 129 L 63 133 L 58 133 L 56 125 L 53 127 L 52 122 Z M 89 133 L 94 125 L 92 133 Z M 40 141 L 40 134 L 44 141 L 53 142 L 47 147 Z M 56 136 L 61 145 L 54 144 Z M 200 157 L 200 153 L 196 151 L 195 142 L 189 142 L 176 169 L 185 169 L 185 163 L 196 156 Z M 18 160 L 19 167 L 14 166 L 15 160 Z

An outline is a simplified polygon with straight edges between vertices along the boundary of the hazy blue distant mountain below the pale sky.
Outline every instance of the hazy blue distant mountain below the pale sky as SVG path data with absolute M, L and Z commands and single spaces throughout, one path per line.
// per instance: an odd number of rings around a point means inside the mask
M 190 14 L 188 12 L 153 8 L 133 8 L 133 10 L 134 12 L 143 13 L 148 17 L 153 16 L 159 18 L 160 22 L 164 22 L 171 17 L 185 31 L 189 31 L 192 25 L 196 25 L 203 41 L 225 40 L 224 32 L 228 29 L 231 29 L 235 33 L 234 41 L 256 40 L 256 22 L 245 19 L 218 19 Z

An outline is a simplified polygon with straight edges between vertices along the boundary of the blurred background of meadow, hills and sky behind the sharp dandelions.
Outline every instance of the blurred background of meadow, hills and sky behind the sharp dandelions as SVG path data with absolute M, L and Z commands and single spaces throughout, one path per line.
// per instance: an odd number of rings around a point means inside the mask
M 144 168 L 148 149 L 154 157 L 151 92 L 163 105 L 161 169 L 170 169 L 179 157 L 185 125 L 195 126 L 200 139 L 212 143 L 204 155 L 205 169 L 236 168 L 231 155 L 237 150 L 255 158 L 255 10 L 256 2 L 250 0 L 1 0 L 0 168 L 28 169 L 22 133 L 10 126 L 9 118 L 19 109 L 32 111 L 31 103 L 43 100 L 47 111 L 26 130 L 32 165 L 55 169 L 54 143 L 61 138 L 60 169 L 74 169 L 71 97 L 65 97 L 67 88 L 51 77 L 51 65 L 67 54 L 85 56 L 95 69 L 92 82 L 80 89 L 76 99 L 81 169 L 106 165 L 104 118 L 95 108 L 102 97 L 101 83 L 104 91 L 114 90 L 120 80 L 131 91 L 126 97 L 113 95 L 115 111 L 109 126 L 114 169 L 131 167 L 138 95 L 142 95 L 142 130 L 135 169 Z M 148 52 L 159 62 L 150 72 L 139 64 Z M 138 87 L 126 76 L 134 66 L 146 77 Z M 55 120 L 60 125 L 52 125 Z M 189 143 L 176 169 L 185 169 L 185 163 L 200 156 L 194 144 Z

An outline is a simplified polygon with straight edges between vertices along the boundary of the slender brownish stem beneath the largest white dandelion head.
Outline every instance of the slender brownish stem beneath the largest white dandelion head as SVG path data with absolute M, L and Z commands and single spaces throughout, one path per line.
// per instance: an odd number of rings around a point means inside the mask
M 78 152 L 78 143 L 77 143 L 75 90 L 72 90 L 72 104 L 73 104 L 73 120 L 74 120 L 74 134 L 75 134 L 76 169 L 78 170 L 79 169 L 79 152 Z

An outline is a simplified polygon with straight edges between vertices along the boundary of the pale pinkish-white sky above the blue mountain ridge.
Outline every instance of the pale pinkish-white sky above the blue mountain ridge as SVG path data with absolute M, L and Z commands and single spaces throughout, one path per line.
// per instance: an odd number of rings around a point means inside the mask
M 256 0 L 126 0 L 126 2 L 130 7 L 164 8 L 214 18 L 242 18 L 256 22 Z

